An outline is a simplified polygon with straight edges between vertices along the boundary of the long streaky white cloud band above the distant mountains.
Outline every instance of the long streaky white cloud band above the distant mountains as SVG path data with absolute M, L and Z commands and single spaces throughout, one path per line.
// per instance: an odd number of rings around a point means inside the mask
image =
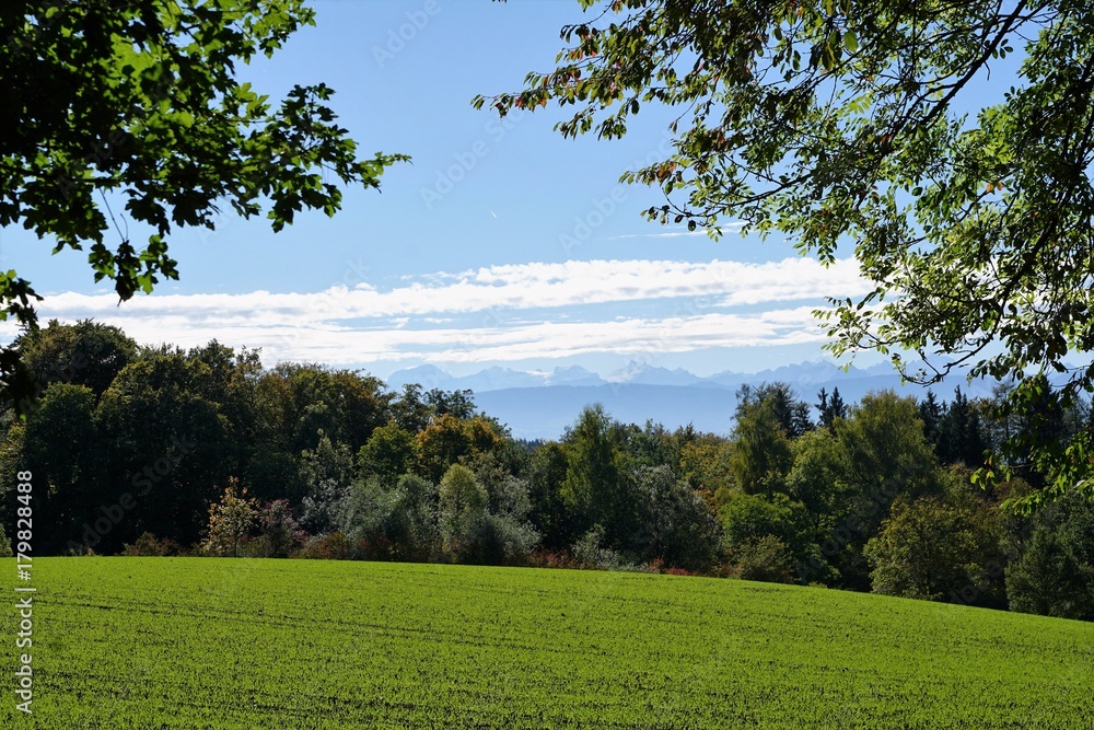
M 93 317 L 142 343 L 261 347 L 269 361 L 488 362 L 821 341 L 814 304 L 868 290 L 852 259 L 827 269 L 806 258 L 571 260 L 440 273 L 387 291 L 153 294 L 120 306 L 113 294 L 67 292 L 47 297 L 39 316 Z M 589 304 L 604 306 L 577 309 Z M 741 306 L 752 311 L 725 311 Z M 14 334 L 0 324 L 0 336 Z

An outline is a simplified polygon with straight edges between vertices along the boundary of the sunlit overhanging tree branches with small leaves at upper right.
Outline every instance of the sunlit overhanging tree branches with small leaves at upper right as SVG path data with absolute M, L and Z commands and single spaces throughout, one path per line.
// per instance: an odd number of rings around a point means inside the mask
M 920 382 L 1014 378 L 1016 410 L 1040 387 L 1031 375 L 1063 373 L 1064 405 L 1094 385 L 1094 368 L 1069 360 L 1094 349 L 1084 3 L 581 4 L 595 11 L 562 28 L 556 69 L 473 103 L 572 105 L 556 129 L 604 139 L 642 108 L 675 107 L 672 152 L 622 175 L 664 193 L 644 215 L 712 235 L 730 217 L 825 265 L 853 246 L 872 289 L 822 311 L 834 352 L 888 354 Z M 984 83 L 1015 47 L 1016 77 Z M 1092 431 L 1008 450 L 1044 454 L 1052 494 L 1094 491 Z

